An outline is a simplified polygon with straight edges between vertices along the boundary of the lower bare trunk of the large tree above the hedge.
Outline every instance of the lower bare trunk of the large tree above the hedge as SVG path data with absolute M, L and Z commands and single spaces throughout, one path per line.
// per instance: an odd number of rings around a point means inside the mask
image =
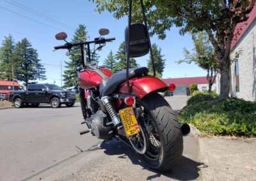
M 230 61 L 225 60 L 225 63 L 220 67 L 220 101 L 228 98 L 230 88 Z

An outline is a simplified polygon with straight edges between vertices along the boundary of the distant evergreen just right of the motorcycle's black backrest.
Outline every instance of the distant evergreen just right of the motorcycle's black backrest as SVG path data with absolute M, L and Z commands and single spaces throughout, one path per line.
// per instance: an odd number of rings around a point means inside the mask
M 154 43 L 152 45 L 152 53 L 153 53 L 153 56 L 154 56 L 155 68 L 156 68 L 156 72 L 158 73 L 158 75 L 160 77 L 163 76 L 163 71 L 164 71 L 165 61 L 166 61 L 166 59 L 164 59 L 164 55 L 161 55 L 161 51 L 162 51 L 162 49 L 160 47 L 158 48 L 156 43 Z M 150 55 L 150 59 L 147 60 L 147 62 L 148 62 L 149 71 L 153 72 L 151 55 Z

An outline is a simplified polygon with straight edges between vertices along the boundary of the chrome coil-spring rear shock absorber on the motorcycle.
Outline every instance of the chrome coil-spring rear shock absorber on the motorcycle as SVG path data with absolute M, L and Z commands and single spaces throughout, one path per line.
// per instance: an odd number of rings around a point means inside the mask
M 120 119 L 118 118 L 118 115 L 116 113 L 116 110 L 112 104 L 112 100 L 109 96 L 104 96 L 101 98 L 103 105 L 106 107 L 106 110 L 108 111 L 113 123 L 115 126 L 119 126 Z

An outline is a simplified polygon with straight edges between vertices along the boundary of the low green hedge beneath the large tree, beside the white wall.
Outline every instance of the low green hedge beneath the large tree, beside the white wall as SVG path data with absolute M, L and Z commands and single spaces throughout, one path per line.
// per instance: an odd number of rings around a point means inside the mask
M 179 115 L 205 134 L 256 136 L 256 103 L 230 98 L 220 102 L 215 92 L 195 91 Z

